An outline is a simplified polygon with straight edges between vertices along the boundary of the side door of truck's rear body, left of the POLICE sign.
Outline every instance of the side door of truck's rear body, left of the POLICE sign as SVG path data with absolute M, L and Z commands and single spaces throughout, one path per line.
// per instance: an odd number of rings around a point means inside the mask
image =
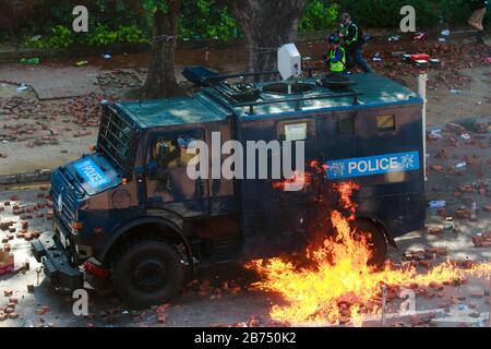
M 265 216 L 266 224 L 262 229 L 248 233 L 247 255 L 256 252 L 261 256 L 268 256 L 301 250 L 309 240 L 309 225 L 318 212 L 315 198 L 319 194 L 320 174 L 310 166 L 319 159 L 315 120 L 279 120 L 276 122 L 275 133 L 276 140 L 282 144 L 280 154 L 276 156 L 280 156 L 282 161 L 284 156 L 291 157 L 292 167 L 297 164 L 297 144 L 303 142 L 304 176 L 300 174 L 294 180 L 294 185 L 285 178 L 280 181 L 273 180 L 273 185 L 262 189 L 262 206 L 255 207 L 255 214 Z M 292 146 L 285 146 L 284 141 L 291 142 Z M 289 154 L 284 154 L 286 152 Z M 291 170 L 298 172 L 299 169 Z

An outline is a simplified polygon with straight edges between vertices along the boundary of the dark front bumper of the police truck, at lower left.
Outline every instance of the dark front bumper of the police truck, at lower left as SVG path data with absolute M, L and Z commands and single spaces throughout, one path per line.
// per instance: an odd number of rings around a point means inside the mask
M 70 254 L 61 243 L 45 246 L 41 241 L 34 240 L 31 251 L 37 262 L 43 262 L 45 275 L 53 287 L 70 291 L 83 288 L 84 275 L 70 265 Z

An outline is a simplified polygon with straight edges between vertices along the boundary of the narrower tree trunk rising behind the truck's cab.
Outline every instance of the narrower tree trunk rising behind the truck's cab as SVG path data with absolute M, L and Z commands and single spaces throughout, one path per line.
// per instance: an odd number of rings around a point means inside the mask
M 180 0 L 167 0 L 166 3 L 166 12 L 158 9 L 154 14 L 152 59 L 143 86 L 144 98 L 164 98 L 182 93 L 173 67 Z

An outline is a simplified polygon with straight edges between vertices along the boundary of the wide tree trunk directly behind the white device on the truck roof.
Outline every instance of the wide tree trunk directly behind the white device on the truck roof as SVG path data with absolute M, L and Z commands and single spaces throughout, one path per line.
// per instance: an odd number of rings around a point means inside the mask
M 244 36 L 248 70 L 277 70 L 277 49 L 296 39 L 307 0 L 228 0 L 225 3 Z

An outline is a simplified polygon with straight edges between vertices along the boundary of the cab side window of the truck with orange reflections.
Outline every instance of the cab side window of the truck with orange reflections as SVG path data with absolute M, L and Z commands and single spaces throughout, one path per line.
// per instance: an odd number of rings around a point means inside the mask
M 197 154 L 197 148 L 188 154 L 188 146 L 196 141 L 190 134 L 176 134 L 176 136 L 157 137 L 152 144 L 149 158 L 159 168 L 179 168 L 188 166 L 188 163 Z

